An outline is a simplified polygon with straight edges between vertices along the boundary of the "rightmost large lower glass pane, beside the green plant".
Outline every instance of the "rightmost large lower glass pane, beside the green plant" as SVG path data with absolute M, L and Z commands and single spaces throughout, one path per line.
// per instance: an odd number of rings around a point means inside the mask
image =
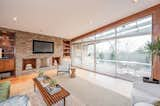
M 144 49 L 148 42 L 151 42 L 151 35 L 117 40 L 117 75 L 129 80 L 151 75 L 151 56 Z

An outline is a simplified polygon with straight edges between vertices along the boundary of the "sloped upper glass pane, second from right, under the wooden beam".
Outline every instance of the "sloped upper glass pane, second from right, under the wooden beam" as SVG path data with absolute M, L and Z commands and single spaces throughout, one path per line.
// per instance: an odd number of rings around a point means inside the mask
M 96 35 L 96 40 L 115 37 L 115 29 L 102 32 Z

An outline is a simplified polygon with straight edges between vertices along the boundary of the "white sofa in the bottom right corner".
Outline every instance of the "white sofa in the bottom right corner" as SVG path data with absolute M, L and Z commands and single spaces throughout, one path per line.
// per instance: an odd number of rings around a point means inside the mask
M 133 84 L 133 106 L 154 106 L 157 101 L 160 101 L 160 84 L 144 83 L 142 80 Z

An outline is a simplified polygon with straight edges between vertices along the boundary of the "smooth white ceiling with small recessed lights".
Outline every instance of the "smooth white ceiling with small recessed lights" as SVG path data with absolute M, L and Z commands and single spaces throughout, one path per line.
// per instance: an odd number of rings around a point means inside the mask
M 71 39 L 158 3 L 160 0 L 0 0 L 0 27 Z

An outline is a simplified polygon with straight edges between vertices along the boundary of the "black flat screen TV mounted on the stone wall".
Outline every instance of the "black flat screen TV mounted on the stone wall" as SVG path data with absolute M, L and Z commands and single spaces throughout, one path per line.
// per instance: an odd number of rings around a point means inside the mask
M 54 53 L 54 42 L 33 40 L 33 53 Z

